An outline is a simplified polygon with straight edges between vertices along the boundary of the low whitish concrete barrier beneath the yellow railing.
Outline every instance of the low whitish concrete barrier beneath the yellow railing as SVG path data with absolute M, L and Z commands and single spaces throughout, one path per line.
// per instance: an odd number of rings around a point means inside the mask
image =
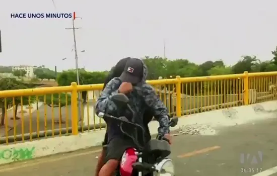
M 178 125 L 172 128 L 172 130 L 180 130 L 184 126 L 189 128 L 190 125 L 195 124 L 208 125 L 212 128 L 240 125 L 265 118 L 276 118 L 274 115 L 276 110 L 277 101 L 270 101 L 192 114 L 181 117 Z M 152 135 L 157 134 L 158 126 L 159 123 L 155 121 L 149 124 Z M 101 144 L 104 134 L 105 130 L 96 130 L 80 133 L 77 136 L 40 139 L 8 146 L 0 145 L 0 164 L 98 146 Z M 213 133 L 213 135 L 215 134 Z

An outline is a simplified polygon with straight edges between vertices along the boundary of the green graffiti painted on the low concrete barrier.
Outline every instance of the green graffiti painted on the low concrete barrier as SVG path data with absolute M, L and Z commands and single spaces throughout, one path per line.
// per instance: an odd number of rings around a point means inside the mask
M 33 158 L 35 147 L 32 148 L 7 148 L 0 150 L 0 160 L 25 160 Z

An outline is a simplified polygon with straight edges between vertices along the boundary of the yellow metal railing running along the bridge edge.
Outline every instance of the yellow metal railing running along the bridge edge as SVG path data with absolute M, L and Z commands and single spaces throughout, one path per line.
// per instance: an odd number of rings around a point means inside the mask
M 147 81 L 172 116 L 275 100 L 277 71 Z M 94 113 L 103 84 L 0 91 L 0 144 L 105 127 Z M 82 97 L 78 100 L 78 93 Z M 81 111 L 78 104 L 81 105 Z M 11 106 L 12 105 L 12 106 Z M 81 114 L 79 113 L 81 112 Z M 17 117 L 18 116 L 18 117 Z

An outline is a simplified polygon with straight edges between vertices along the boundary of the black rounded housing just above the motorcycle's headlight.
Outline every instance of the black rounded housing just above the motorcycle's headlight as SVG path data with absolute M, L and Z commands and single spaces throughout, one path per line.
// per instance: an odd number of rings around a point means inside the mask
M 145 145 L 145 151 L 148 154 L 154 154 L 156 157 L 167 157 L 170 155 L 170 145 L 167 141 L 158 140 L 158 139 L 151 139 Z

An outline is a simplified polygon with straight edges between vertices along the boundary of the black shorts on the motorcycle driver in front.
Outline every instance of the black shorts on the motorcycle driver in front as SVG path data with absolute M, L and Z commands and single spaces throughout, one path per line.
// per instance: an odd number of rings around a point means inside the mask
M 130 147 L 135 147 L 135 145 L 127 137 L 116 137 L 111 139 L 106 147 L 106 157 L 104 163 L 110 159 L 120 161 L 124 151 Z

